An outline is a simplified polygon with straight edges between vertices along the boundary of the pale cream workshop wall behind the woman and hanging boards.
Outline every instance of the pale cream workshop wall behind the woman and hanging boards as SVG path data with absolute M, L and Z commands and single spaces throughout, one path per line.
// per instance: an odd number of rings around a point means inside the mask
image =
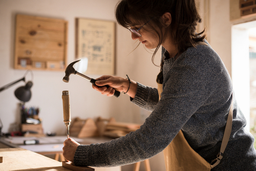
M 202 14 L 202 29 L 207 27 L 207 40 L 211 47 L 220 55 L 228 72 L 232 75 L 231 41 L 232 25 L 236 18 L 230 21 L 230 4 L 238 4 L 239 0 L 197 1 Z M 64 19 L 68 21 L 67 64 L 75 58 L 75 18 L 92 18 L 115 21 L 114 9 L 118 0 L 0 0 L 0 87 L 22 78 L 26 70 L 14 69 L 15 49 L 15 16 L 16 14 L 33 15 Z M 248 21 L 253 20 L 249 18 Z M 254 17 L 255 20 L 255 17 Z M 239 22 L 237 22 L 239 23 Z M 255 26 L 256 27 L 256 26 Z M 116 76 L 126 77 L 146 86 L 157 87 L 156 76 L 160 70 L 151 61 L 153 51 L 145 50 L 138 42 L 132 40 L 131 33 L 116 24 Z M 249 53 L 249 52 L 248 52 Z M 155 57 L 155 63 L 160 64 L 161 51 Z M 44 132 L 55 132 L 65 135 L 63 123 L 62 91 L 70 92 L 71 117 L 82 119 L 97 117 L 114 117 L 120 122 L 143 123 L 150 115 L 130 102 L 127 95 L 107 97 L 92 89 L 87 80 L 71 75 L 69 83 L 62 81 L 64 71 L 33 70 L 32 98 L 25 106 L 40 108 Z M 98 78 L 101 75 L 88 75 Z M 31 79 L 30 73 L 26 81 Z M 24 86 L 19 82 L 15 86 L 0 93 L 0 118 L 3 122 L 3 133 L 15 131 L 20 123 L 20 101 L 14 96 L 14 90 Z M 158 157 L 151 161 L 152 170 L 164 169 L 164 162 Z M 161 165 L 161 166 L 159 166 Z

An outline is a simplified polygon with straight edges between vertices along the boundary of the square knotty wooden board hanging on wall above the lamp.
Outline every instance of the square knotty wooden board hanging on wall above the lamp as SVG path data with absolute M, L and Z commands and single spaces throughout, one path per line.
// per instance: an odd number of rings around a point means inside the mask
M 17 14 L 14 68 L 65 70 L 67 30 L 66 20 Z

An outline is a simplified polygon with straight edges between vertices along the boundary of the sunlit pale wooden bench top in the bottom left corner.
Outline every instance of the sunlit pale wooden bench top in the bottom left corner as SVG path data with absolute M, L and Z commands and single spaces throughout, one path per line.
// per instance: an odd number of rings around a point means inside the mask
M 62 167 L 61 162 L 23 148 L 1 148 L 0 154 L 3 156 L 1 170 L 70 170 Z

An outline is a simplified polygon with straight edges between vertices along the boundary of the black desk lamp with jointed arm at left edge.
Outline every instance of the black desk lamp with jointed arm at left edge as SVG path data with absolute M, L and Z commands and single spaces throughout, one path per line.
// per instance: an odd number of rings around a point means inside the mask
M 31 72 L 31 76 L 32 76 L 32 79 L 33 79 L 32 71 L 31 70 L 28 70 L 28 71 Z M 16 81 L 13 81 L 13 82 L 7 84 L 6 86 L 0 88 L 0 92 L 2 92 L 3 90 L 8 89 L 9 87 L 13 86 L 14 84 L 16 84 L 19 81 L 24 81 L 25 82 L 25 76 L 27 75 L 28 71 L 25 73 L 23 78 L 21 78 L 19 80 L 16 80 Z M 20 101 L 23 101 L 23 102 L 29 101 L 30 98 L 31 98 L 31 95 L 32 95 L 31 90 L 30 90 L 30 88 L 32 86 L 33 86 L 32 81 L 28 81 L 25 86 L 17 88 L 14 92 L 17 99 L 19 99 Z

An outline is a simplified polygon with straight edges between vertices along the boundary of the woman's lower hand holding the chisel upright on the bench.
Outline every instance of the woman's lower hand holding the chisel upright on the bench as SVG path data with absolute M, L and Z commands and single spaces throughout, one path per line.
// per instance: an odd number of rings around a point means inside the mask
M 74 162 L 74 156 L 76 153 L 76 148 L 80 145 L 77 143 L 75 140 L 72 138 L 67 139 L 64 141 L 64 146 L 63 146 L 63 156 L 65 157 L 66 160 Z

